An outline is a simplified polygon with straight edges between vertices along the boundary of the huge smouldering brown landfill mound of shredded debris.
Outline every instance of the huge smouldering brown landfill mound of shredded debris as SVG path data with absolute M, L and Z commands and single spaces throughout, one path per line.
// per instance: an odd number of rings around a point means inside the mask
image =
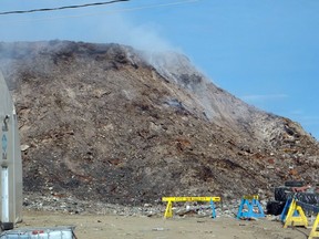
M 0 43 L 24 193 L 122 205 L 270 197 L 318 181 L 318 142 L 214 85 L 179 53 L 71 41 Z M 243 82 L 245 84 L 245 82 Z

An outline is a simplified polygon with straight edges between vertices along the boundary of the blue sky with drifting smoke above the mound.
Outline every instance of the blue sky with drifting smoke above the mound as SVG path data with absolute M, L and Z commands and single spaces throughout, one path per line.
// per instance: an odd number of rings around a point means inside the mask
M 99 1 L 1 0 L 0 11 Z M 131 0 L 0 14 L 0 41 L 60 39 L 182 51 L 216 85 L 319 138 L 318 0 Z

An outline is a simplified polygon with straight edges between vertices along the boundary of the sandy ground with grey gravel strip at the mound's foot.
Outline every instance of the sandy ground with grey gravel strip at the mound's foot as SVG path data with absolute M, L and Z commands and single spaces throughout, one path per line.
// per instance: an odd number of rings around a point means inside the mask
M 288 228 L 275 216 L 237 220 L 240 200 L 216 202 L 217 218 L 209 204 L 174 204 L 173 218 L 164 219 L 165 205 L 125 207 L 81 201 L 73 197 L 34 196 L 24 198 L 21 228 L 75 226 L 78 238 L 230 238 L 303 239 L 310 229 Z M 260 201 L 264 208 L 265 201 Z M 310 224 L 311 225 L 311 224 Z

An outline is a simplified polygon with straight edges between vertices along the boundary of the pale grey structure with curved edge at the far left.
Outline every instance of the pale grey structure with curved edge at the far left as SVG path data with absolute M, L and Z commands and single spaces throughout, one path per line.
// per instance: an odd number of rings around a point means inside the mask
M 12 97 L 0 72 L 0 221 L 22 220 L 22 162 Z

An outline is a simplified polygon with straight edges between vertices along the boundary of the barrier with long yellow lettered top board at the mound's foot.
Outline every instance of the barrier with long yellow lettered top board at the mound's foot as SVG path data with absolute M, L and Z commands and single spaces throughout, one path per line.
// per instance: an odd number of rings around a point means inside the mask
M 164 214 L 164 218 L 171 218 L 173 217 L 173 201 L 210 201 L 212 210 L 213 210 L 213 217 L 215 214 L 215 207 L 214 202 L 220 201 L 220 197 L 163 197 L 162 201 L 167 201 L 166 210 Z

